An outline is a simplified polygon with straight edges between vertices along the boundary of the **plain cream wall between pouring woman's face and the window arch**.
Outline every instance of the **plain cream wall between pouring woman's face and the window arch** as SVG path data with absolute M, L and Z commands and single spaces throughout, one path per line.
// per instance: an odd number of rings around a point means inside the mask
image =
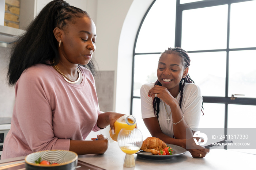
M 94 57 L 98 63 L 99 71 L 114 71 L 113 108 L 116 101 L 116 73 L 118 60 L 118 43 L 121 30 L 129 7 L 133 0 L 98 0 L 96 18 L 96 51 Z M 88 11 L 89 13 L 89 11 Z M 89 13 L 90 15 L 90 13 Z M 110 127 L 101 130 L 101 134 L 109 136 Z M 99 132 L 91 132 L 86 140 L 95 137 Z M 110 142 L 113 142 L 110 139 Z

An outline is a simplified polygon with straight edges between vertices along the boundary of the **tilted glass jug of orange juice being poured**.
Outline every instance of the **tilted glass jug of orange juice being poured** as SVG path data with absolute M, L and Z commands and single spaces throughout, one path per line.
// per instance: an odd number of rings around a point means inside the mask
M 122 117 L 119 117 L 114 123 L 115 127 L 115 134 L 112 134 L 111 128 L 109 130 L 110 137 L 117 141 L 118 133 L 123 128 L 135 128 L 136 127 L 136 119 L 133 115 L 124 115 Z

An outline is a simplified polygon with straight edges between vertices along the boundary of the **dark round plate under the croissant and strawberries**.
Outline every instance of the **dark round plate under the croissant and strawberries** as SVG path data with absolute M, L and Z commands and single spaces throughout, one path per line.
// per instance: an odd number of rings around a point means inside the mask
M 171 159 L 173 157 L 183 155 L 187 151 L 185 148 L 182 148 L 182 147 L 174 145 L 174 144 L 167 144 L 167 146 L 169 146 L 173 149 L 172 155 L 153 155 L 153 154 L 151 154 L 151 152 L 144 152 L 143 150 L 138 151 L 136 154 L 139 157 L 146 158 L 146 159 L 161 160 L 161 159 Z

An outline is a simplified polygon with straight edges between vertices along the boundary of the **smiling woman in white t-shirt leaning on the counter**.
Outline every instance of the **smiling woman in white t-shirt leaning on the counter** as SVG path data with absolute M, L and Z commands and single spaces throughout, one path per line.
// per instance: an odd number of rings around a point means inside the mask
M 162 53 L 158 80 L 140 89 L 142 119 L 152 136 L 184 148 L 187 144 L 193 148 L 187 149 L 193 157 L 203 158 L 210 150 L 196 146 L 192 138 L 193 129 L 199 125 L 203 99 L 199 86 L 188 75 L 189 65 L 187 52 L 179 47 Z M 190 129 L 187 134 L 186 128 Z

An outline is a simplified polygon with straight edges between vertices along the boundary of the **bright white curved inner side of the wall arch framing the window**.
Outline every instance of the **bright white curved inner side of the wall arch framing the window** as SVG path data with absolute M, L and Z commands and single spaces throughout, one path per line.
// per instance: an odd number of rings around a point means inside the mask
M 153 0 L 133 0 L 124 20 L 118 39 L 116 112 L 130 114 L 133 47 L 140 23 L 152 2 Z

